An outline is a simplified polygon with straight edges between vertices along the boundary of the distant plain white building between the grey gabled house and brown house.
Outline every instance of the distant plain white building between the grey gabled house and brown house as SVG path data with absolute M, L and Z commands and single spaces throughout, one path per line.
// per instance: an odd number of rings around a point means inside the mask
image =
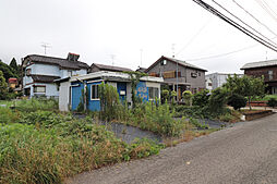
M 238 77 L 242 77 L 243 74 L 236 74 Z M 234 74 L 228 73 L 212 73 L 205 76 L 206 78 L 206 89 L 214 90 L 218 87 L 221 87 L 225 83 L 227 83 L 227 78 L 231 76 L 233 77 Z

